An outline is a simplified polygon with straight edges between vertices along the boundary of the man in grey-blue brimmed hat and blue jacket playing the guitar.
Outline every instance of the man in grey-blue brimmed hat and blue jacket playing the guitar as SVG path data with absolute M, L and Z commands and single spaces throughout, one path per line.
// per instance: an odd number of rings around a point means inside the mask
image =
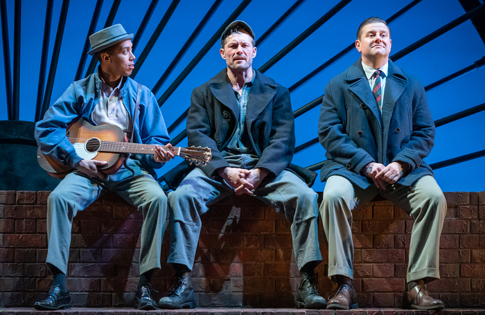
M 154 178 L 157 176 L 154 168 L 161 168 L 173 159 L 173 154 L 161 147 L 170 145 L 155 96 L 128 78 L 134 69 L 132 37 L 121 24 L 91 35 L 89 55 L 99 60 L 98 71 L 73 82 L 35 125 L 35 138 L 42 152 L 74 169 L 47 200 L 46 264 L 53 274 L 53 285 L 46 298 L 35 303 L 35 309 L 71 307 L 66 272 L 72 220 L 105 190 L 116 192 L 143 213 L 136 306 L 139 309 L 157 307 L 150 293 L 150 277 L 160 268 L 166 196 Z M 118 171 L 105 175 L 99 171 L 105 161 L 82 159 L 67 139 L 68 124 L 76 118 L 91 125 L 117 125 L 131 142 L 157 145 L 155 154 L 132 154 Z

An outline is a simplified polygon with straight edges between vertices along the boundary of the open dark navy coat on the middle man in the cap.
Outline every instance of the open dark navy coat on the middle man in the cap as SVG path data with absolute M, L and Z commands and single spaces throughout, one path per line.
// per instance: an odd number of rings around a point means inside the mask
M 255 168 L 269 170 L 270 177 L 276 177 L 288 169 L 311 186 L 315 181 L 315 172 L 290 165 L 294 153 L 294 117 L 290 93 L 273 79 L 255 71 L 245 122 L 250 141 L 259 157 Z M 212 160 L 200 168 L 208 177 L 218 176 L 218 168 L 229 166 L 221 152 L 236 132 L 239 120 L 239 105 L 227 69 L 193 90 L 187 116 L 188 145 L 211 148 Z M 163 178 L 170 188 L 174 188 L 190 170 L 183 163 Z

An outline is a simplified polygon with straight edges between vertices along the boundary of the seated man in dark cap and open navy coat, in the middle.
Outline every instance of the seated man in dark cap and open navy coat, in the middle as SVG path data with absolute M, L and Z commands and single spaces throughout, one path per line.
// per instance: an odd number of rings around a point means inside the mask
M 195 307 L 191 270 L 200 215 L 211 204 L 236 193 L 253 195 L 285 214 L 301 274 L 297 307 L 325 308 L 314 273 L 321 262 L 317 194 L 301 179 L 310 177 L 311 186 L 315 173 L 305 174 L 304 169 L 290 165 L 294 152 L 290 93 L 252 68 L 254 33 L 244 21 L 233 21 L 224 30 L 220 55 L 227 67 L 193 90 L 186 128 L 189 145 L 210 147 L 212 160 L 204 168 L 185 172 L 182 183 L 173 181 L 183 178 L 177 170 L 164 176 L 169 186 L 178 184 L 168 195 L 168 262 L 175 267 L 176 281 L 159 307 Z M 289 168 L 300 172 L 295 174 Z

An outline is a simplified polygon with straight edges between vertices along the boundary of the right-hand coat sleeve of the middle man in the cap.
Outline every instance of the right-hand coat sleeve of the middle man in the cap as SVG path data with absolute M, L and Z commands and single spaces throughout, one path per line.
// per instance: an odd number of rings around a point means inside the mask
M 288 89 L 278 87 L 274 96 L 270 141 L 255 168 L 265 168 L 278 176 L 290 164 L 294 153 L 294 116 Z

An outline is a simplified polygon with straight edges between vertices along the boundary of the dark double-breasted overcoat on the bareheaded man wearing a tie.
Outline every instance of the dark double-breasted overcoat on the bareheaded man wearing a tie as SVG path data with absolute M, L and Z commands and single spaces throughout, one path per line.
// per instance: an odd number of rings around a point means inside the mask
M 434 145 L 434 122 L 425 90 L 391 60 L 382 120 L 359 59 L 328 82 L 318 135 L 327 158 L 321 168 L 321 181 L 340 175 L 365 189 L 372 181 L 360 172 L 370 162 L 408 163 L 409 170 L 398 181 L 405 186 L 432 175 L 430 166 L 423 161 Z

